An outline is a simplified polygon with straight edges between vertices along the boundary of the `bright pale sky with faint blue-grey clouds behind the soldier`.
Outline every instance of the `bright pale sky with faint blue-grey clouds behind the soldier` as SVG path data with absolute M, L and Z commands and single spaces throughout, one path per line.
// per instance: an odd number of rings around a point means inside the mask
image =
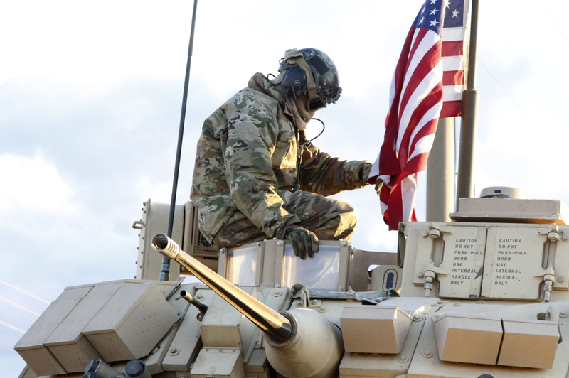
M 568 203 L 569 3 L 481 2 L 475 192 L 503 185 Z M 189 198 L 203 119 L 255 72 L 276 75 L 289 48 L 323 50 L 341 77 L 339 102 L 317 113 L 326 130 L 314 144 L 373 162 L 393 69 L 421 4 L 200 1 L 176 203 Z M 170 201 L 192 7 L 0 2 L 1 377 L 18 377 L 25 362 L 12 347 L 65 287 L 134 278 L 131 225 L 142 202 Z M 309 135 L 319 131 L 309 124 Z M 421 174 L 419 220 L 425 182 Z M 335 197 L 358 212 L 354 247 L 395 252 L 371 186 Z

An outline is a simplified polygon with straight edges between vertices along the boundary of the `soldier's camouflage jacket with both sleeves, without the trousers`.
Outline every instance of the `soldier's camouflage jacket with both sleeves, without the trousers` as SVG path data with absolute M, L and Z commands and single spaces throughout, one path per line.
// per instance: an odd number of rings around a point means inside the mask
M 260 73 L 203 122 L 193 171 L 191 200 L 200 229 L 211 241 L 239 210 L 267 238 L 282 237 L 299 218 L 283 208 L 297 180 L 298 133 L 292 112 Z M 332 195 L 366 185 L 371 164 L 344 161 L 308 143 L 300 190 Z

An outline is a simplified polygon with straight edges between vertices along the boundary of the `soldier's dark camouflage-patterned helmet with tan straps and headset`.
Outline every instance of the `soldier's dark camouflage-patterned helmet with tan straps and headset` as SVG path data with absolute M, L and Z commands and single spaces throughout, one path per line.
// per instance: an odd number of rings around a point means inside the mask
M 287 93 L 303 97 L 308 92 L 310 110 L 333 104 L 340 97 L 342 89 L 336 65 L 328 55 L 316 48 L 287 50 L 285 58 L 279 63 L 279 72 L 284 76 Z

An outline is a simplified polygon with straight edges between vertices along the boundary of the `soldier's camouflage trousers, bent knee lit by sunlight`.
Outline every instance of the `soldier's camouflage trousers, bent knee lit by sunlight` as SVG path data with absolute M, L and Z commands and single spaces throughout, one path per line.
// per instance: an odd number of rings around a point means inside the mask
M 281 195 L 285 201 L 283 207 L 299 217 L 301 227 L 314 232 L 320 240 L 350 239 L 358 215 L 349 203 L 304 191 L 286 193 Z M 269 239 L 265 232 L 242 212 L 235 211 L 213 237 L 213 245 L 234 247 L 265 239 Z

